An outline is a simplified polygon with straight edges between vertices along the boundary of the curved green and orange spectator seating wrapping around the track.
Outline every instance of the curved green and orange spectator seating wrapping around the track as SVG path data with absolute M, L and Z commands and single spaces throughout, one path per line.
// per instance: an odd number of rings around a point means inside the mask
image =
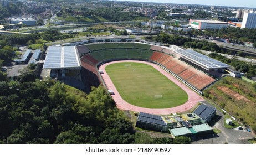
M 115 48 L 113 48 L 114 46 L 110 46 L 109 43 L 105 43 L 105 46 L 104 44 L 92 44 L 91 46 L 88 46 L 88 49 L 93 49 L 93 52 L 85 54 L 81 58 L 81 64 L 84 66 L 85 69 L 88 69 L 89 71 L 92 71 L 94 74 L 97 75 L 98 70 L 96 70 L 95 65 L 104 60 L 118 58 L 149 59 L 165 66 L 173 74 L 180 77 L 180 79 L 185 81 L 187 84 L 190 84 L 192 87 L 199 91 L 212 84 L 212 82 L 216 81 L 202 71 L 199 71 L 192 66 L 184 63 L 183 61 L 175 59 L 173 58 L 173 56 L 168 55 L 172 54 L 171 50 L 163 49 L 163 51 L 168 51 L 168 54 L 165 54 L 157 51 L 152 51 L 152 49 L 157 50 L 156 48 L 158 48 L 158 46 L 151 45 L 151 50 L 144 50 L 137 49 L 139 47 L 138 45 L 139 44 L 137 43 L 115 43 Z M 148 47 L 149 45 L 140 45 L 140 48 Z M 161 49 L 158 48 L 158 50 Z

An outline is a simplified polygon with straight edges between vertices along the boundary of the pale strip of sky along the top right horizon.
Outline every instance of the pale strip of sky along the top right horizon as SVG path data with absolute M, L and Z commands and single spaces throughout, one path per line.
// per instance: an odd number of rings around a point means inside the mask
M 177 3 L 177 4 L 201 4 L 208 6 L 232 6 L 256 8 L 255 0 L 119 0 L 135 2 L 159 2 L 159 3 Z

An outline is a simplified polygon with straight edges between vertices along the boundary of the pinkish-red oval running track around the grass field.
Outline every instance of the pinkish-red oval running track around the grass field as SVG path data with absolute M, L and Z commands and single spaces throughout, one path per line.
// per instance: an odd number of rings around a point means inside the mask
M 180 105 L 177 107 L 172 107 L 172 108 L 144 108 L 144 107 L 138 107 L 138 106 L 129 104 L 128 102 L 126 102 L 125 100 L 122 99 L 122 97 L 120 96 L 119 92 L 116 90 L 116 87 L 114 86 L 113 82 L 111 81 L 109 75 L 107 75 L 106 70 L 105 70 L 105 67 L 107 65 L 114 64 L 114 63 L 121 63 L 121 62 L 143 63 L 143 64 L 148 64 L 148 65 L 153 66 L 153 68 L 160 71 L 160 73 L 162 73 L 163 75 L 168 77 L 168 79 L 173 81 L 176 85 L 181 87 L 181 89 L 183 89 L 187 93 L 187 95 L 188 95 L 187 102 L 183 105 Z M 120 110 L 131 110 L 131 111 L 136 111 L 136 112 L 145 112 L 145 113 L 158 114 L 158 115 L 168 115 L 170 113 L 187 111 L 190 108 L 194 107 L 198 103 L 198 101 L 204 100 L 200 95 L 198 95 L 196 92 L 194 92 L 193 90 L 188 88 L 181 81 L 177 80 L 171 74 L 167 73 L 167 71 L 163 70 L 160 66 L 153 64 L 153 63 L 149 63 L 149 62 L 145 62 L 145 61 L 133 61 L 133 60 L 113 61 L 113 62 L 101 65 L 99 69 L 103 70 L 103 72 L 104 72 L 104 74 L 101 74 L 101 76 L 103 77 L 103 80 L 105 81 L 107 89 L 114 91 L 115 95 L 111 95 L 111 96 L 114 99 L 114 101 L 116 102 L 117 108 L 119 108 Z

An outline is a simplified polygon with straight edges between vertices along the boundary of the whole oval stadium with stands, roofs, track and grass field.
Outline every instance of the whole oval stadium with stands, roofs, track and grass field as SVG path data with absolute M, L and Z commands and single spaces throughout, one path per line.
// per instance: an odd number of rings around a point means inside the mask
M 47 54 L 58 50 L 54 59 L 60 59 L 61 67 L 52 65 L 58 61 L 46 56 L 43 69 L 51 69 L 58 80 L 87 92 L 91 86 L 105 86 L 121 110 L 168 115 L 189 110 L 203 101 L 202 90 L 229 67 L 175 45 L 104 41 L 50 46 Z

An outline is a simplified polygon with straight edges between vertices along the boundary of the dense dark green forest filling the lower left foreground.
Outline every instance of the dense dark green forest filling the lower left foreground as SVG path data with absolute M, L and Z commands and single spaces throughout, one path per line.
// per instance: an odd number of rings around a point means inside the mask
M 0 143 L 190 143 L 136 132 L 104 87 L 90 94 L 36 79 L 29 66 L 17 81 L 0 82 Z

